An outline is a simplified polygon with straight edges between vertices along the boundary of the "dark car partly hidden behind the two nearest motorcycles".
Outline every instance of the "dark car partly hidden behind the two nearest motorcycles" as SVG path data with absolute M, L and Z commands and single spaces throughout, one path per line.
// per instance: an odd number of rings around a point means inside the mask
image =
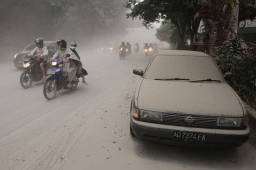
M 44 41 L 43 45 L 47 47 L 49 58 L 52 58 L 52 56 L 56 53 L 58 50 L 58 46 L 56 41 Z M 14 55 L 13 58 L 13 64 L 16 66 L 17 69 L 23 69 L 23 58 L 30 54 L 31 51 L 35 48 L 35 43 L 31 43 L 27 47 L 25 47 L 22 51 Z

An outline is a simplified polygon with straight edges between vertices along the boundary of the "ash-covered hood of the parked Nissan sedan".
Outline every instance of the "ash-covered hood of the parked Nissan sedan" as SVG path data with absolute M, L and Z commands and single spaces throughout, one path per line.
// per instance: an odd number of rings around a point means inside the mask
M 137 106 L 160 112 L 242 117 L 244 112 L 238 98 L 226 83 L 144 79 Z

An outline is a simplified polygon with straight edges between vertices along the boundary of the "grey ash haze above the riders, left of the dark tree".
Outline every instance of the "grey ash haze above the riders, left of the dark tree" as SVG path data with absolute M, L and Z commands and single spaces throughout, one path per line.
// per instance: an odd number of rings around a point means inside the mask
M 127 19 L 125 0 L 107 1 L 18 1 L 0 5 L 0 60 L 13 56 L 36 38 L 45 41 L 76 41 L 78 50 L 100 49 L 105 43 L 129 41 L 158 43 L 156 27 Z

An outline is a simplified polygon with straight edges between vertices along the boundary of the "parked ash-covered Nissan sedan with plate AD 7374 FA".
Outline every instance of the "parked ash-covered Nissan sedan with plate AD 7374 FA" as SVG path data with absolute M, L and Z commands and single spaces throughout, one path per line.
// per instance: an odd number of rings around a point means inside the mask
M 208 54 L 159 50 L 140 79 L 130 107 L 130 133 L 161 143 L 237 147 L 250 134 L 248 115 Z

